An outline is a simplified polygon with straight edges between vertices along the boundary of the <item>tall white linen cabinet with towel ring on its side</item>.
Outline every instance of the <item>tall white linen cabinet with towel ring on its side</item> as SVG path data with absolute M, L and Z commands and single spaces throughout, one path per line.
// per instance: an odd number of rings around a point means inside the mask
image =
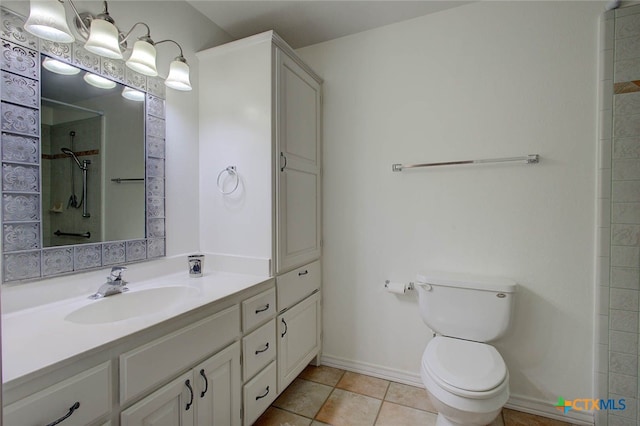
M 201 250 L 276 277 L 279 394 L 321 350 L 322 79 L 273 31 L 198 59 Z

